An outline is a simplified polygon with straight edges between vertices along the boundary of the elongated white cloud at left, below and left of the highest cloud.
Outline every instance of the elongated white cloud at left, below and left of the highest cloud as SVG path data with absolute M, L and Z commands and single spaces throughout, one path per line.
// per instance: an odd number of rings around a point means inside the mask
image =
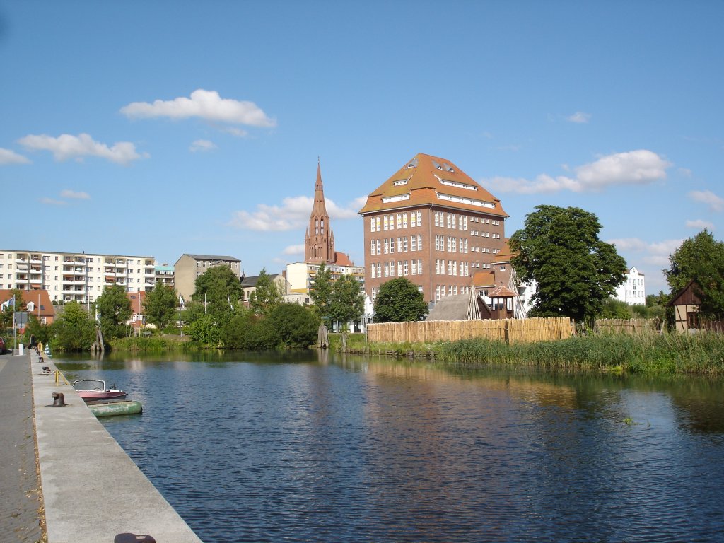
M 97 156 L 116 164 L 124 166 L 131 161 L 145 158 L 147 153 L 140 155 L 136 152 L 135 146 L 127 141 L 119 141 L 114 143 L 112 147 L 105 143 L 98 143 L 88 134 L 79 134 L 77 136 L 70 134 L 62 134 L 57 138 L 49 135 L 30 134 L 25 138 L 18 140 L 22 146 L 29 149 L 39 151 L 50 151 L 56 160 L 64 161 L 67 159 L 83 160 L 85 156 Z

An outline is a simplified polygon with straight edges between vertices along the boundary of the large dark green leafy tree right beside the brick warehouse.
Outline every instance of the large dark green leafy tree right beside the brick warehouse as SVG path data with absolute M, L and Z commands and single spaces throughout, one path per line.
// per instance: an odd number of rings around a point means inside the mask
M 576 207 L 536 206 L 510 237 L 518 278 L 535 281 L 531 316 L 591 320 L 625 279 L 626 261 L 599 240 L 598 217 Z

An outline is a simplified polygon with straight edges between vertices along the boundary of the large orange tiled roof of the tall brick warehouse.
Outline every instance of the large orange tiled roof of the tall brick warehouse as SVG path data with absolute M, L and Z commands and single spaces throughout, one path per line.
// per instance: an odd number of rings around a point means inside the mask
M 404 182 L 395 185 L 396 181 Z M 438 197 L 439 194 L 448 195 L 451 198 L 460 198 L 461 201 L 442 199 Z M 383 201 L 384 198 L 395 196 L 406 196 L 407 198 Z M 476 205 L 470 203 L 471 201 L 484 202 L 492 207 Z M 478 211 L 502 217 L 508 216 L 503 211 L 498 198 L 495 198 L 494 195 L 485 190 L 455 164 L 447 159 L 424 153 L 416 154 L 411 161 L 406 162 L 402 168 L 397 170 L 390 179 L 371 192 L 367 196 L 364 207 L 358 213 L 367 214 L 386 209 L 409 208 L 429 204 Z

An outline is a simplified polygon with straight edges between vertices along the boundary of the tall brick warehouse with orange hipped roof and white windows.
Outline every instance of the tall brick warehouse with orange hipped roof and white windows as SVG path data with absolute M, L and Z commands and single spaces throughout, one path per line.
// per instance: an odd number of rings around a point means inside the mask
M 370 193 L 359 214 L 373 300 L 395 277 L 418 285 L 427 303 L 470 292 L 476 272 L 492 269 L 506 247 L 500 200 L 451 161 L 423 153 Z

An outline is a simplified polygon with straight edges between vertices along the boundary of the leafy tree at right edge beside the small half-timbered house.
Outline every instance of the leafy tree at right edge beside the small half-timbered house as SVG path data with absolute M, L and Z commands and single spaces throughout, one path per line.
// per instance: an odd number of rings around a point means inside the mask
M 671 294 L 694 280 L 696 295 L 702 300 L 699 313 L 713 317 L 724 315 L 724 243 L 708 231 L 684 240 L 669 257 L 664 270 Z

